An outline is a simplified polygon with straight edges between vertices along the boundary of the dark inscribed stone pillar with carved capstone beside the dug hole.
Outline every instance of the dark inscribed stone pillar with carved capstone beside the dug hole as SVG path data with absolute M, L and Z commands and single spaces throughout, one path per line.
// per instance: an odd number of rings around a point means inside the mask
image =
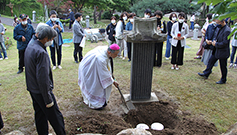
M 125 31 L 132 42 L 130 98 L 133 101 L 151 98 L 155 43 L 166 41 L 166 34 L 157 30 L 157 19 L 134 17 L 132 31 Z

